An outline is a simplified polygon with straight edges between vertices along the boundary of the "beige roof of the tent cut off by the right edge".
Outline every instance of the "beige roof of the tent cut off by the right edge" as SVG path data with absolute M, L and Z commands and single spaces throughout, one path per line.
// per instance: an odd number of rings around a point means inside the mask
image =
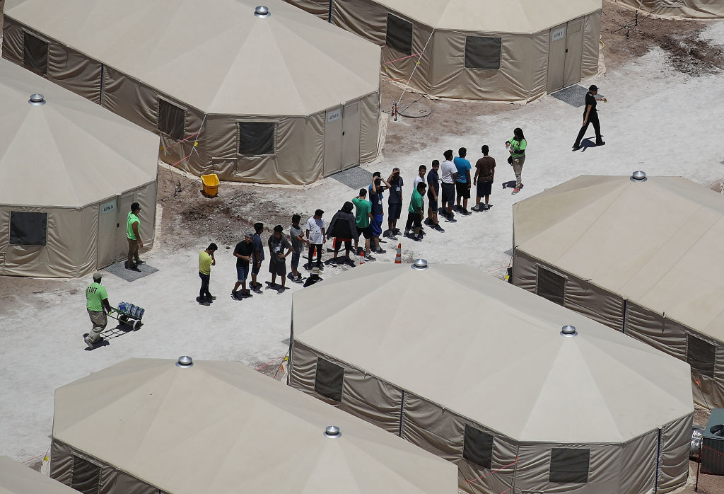
M 526 254 L 724 340 L 720 194 L 683 177 L 581 176 L 515 204 L 513 214 L 516 248 Z

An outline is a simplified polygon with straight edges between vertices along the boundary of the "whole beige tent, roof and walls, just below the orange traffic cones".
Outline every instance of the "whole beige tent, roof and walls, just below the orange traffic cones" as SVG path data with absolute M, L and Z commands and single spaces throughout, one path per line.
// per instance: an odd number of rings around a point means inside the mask
M 289 384 L 457 464 L 468 493 L 665 493 L 689 471 L 689 365 L 469 266 L 295 293 Z

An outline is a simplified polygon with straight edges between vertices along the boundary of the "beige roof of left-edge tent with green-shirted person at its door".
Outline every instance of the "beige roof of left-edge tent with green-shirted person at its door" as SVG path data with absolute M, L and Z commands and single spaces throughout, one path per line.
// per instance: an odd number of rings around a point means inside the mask
M 156 180 L 156 135 L 6 60 L 0 114 L 2 204 L 82 207 Z

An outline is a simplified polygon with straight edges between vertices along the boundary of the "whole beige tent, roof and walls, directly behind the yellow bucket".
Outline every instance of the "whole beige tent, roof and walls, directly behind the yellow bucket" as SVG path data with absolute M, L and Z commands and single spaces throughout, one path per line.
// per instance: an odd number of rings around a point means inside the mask
M 2 56 L 222 180 L 307 184 L 379 152 L 379 47 L 281 0 L 7 0 Z

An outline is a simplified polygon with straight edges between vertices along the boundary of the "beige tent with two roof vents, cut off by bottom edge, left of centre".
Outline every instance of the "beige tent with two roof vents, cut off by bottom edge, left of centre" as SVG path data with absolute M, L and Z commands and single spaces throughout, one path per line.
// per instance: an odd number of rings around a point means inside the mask
M 434 455 L 239 362 L 189 360 L 56 390 L 51 477 L 85 494 L 457 494 Z

